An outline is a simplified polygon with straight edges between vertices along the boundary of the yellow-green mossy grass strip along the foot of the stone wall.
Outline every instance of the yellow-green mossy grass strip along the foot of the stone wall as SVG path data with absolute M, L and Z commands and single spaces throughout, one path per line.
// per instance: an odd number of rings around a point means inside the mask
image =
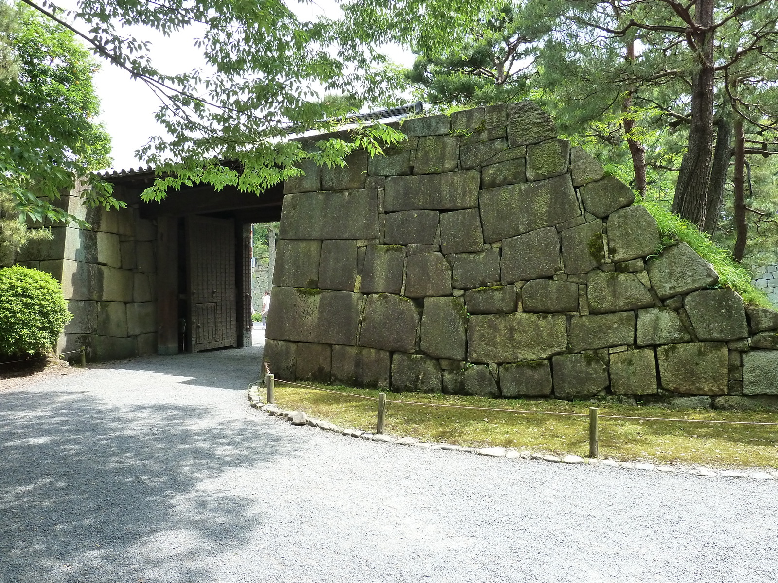
M 315 386 L 315 385 L 314 385 Z M 323 388 L 377 397 L 379 391 L 321 385 Z M 275 385 L 275 402 L 286 410 L 303 410 L 311 417 L 348 428 L 375 431 L 377 403 L 356 397 L 311 389 Z M 497 407 L 585 413 L 591 403 L 486 399 L 426 393 L 387 393 L 388 400 L 417 403 L 450 403 L 474 407 Z M 715 410 L 668 410 L 661 407 L 631 407 L 600 404 L 601 415 L 721 419 L 726 421 L 776 421 L 769 412 Z M 576 454 L 586 457 L 588 417 L 515 414 L 499 411 L 449 409 L 387 403 L 385 431 L 426 442 L 447 442 L 469 447 L 510 447 L 531 452 Z M 650 463 L 703 464 L 705 466 L 778 467 L 778 427 L 683 423 L 678 421 L 600 420 L 600 456 Z

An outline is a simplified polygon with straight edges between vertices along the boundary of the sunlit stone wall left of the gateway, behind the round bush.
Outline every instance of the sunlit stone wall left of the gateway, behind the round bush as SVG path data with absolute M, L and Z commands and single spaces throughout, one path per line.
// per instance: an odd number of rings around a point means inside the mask
M 75 190 L 62 204 L 91 229 L 54 226 L 52 241 L 30 243 L 18 260 L 62 284 L 73 318 L 58 351 L 86 346 L 96 361 L 156 353 L 156 226 L 137 208 L 87 209 L 81 200 Z

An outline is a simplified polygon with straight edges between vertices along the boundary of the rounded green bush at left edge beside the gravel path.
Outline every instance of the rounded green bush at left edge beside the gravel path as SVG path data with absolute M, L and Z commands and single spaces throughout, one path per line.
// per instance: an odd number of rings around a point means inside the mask
M 71 318 L 51 275 L 20 266 L 0 269 L 0 355 L 50 350 Z

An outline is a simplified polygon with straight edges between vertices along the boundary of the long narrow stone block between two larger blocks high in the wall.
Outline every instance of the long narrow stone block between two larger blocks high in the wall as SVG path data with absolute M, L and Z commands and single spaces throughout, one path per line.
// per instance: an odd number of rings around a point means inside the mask
M 384 187 L 384 211 L 476 208 L 480 184 L 481 174 L 475 170 L 426 176 L 390 176 Z

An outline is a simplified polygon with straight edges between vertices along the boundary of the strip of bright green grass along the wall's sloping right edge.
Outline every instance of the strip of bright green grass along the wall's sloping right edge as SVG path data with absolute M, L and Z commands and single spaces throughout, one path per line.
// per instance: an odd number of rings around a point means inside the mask
M 719 274 L 719 285 L 734 289 L 745 302 L 772 308 L 767 296 L 752 282 L 752 273 L 732 257 L 732 253 L 718 246 L 710 235 L 700 231 L 692 222 L 675 215 L 668 209 L 651 201 L 637 201 L 657 219 L 662 236 L 662 247 L 682 242 L 695 250 L 700 257 L 713 265 Z

